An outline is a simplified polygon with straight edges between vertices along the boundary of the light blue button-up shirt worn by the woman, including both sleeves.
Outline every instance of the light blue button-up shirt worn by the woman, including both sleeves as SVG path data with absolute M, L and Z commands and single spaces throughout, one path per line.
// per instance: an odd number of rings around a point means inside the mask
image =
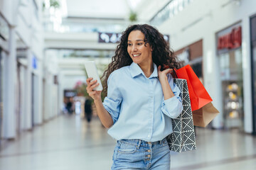
M 103 106 L 114 124 L 107 131 L 116 140 L 146 140 L 155 142 L 173 132 L 171 118 L 183 110 L 181 91 L 167 74 L 174 97 L 164 100 L 156 64 L 149 78 L 138 64 L 132 63 L 110 74 L 107 97 Z

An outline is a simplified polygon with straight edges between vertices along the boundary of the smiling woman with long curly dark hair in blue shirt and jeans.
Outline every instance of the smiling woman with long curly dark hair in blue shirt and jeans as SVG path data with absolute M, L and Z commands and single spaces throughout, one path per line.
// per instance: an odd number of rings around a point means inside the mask
M 163 67 L 169 69 L 162 70 Z M 170 169 L 166 136 L 171 118 L 183 106 L 171 72 L 178 69 L 164 36 L 149 25 L 129 26 L 122 33 L 103 77 L 107 97 L 102 103 L 99 84 L 87 79 L 87 92 L 108 133 L 117 140 L 112 169 Z

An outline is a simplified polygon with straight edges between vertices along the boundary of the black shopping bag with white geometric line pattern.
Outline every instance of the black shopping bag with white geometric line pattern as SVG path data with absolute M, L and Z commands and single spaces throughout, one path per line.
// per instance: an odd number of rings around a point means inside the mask
M 191 102 L 186 79 L 174 79 L 174 84 L 181 90 L 183 111 L 178 118 L 172 118 L 173 131 L 166 139 L 169 149 L 174 152 L 186 152 L 196 149 L 196 137 L 193 126 Z

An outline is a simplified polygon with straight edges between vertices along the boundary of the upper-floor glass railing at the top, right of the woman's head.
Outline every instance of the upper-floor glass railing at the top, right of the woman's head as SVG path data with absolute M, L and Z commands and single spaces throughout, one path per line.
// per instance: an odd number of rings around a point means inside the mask
M 153 26 L 159 26 L 164 23 L 169 18 L 176 16 L 180 11 L 183 11 L 188 4 L 191 4 L 193 0 L 172 0 L 164 8 L 156 13 L 156 15 L 151 18 L 150 23 Z

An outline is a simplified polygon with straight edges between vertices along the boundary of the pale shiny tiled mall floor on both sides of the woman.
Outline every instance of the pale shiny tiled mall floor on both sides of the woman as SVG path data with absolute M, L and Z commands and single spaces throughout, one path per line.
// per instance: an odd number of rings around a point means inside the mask
M 256 137 L 198 128 L 196 138 L 196 151 L 171 152 L 171 169 L 256 169 Z M 110 169 L 114 145 L 97 118 L 62 115 L 2 148 L 0 170 Z

